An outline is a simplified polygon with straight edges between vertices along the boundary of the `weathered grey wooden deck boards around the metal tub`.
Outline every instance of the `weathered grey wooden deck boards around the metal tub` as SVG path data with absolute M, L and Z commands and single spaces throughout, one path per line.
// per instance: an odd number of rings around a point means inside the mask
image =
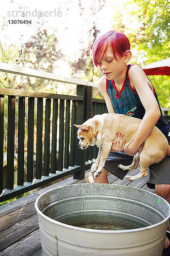
M 130 171 L 135 175 L 139 170 Z M 155 193 L 155 190 L 148 189 L 146 182 L 148 177 L 130 182 L 127 179 L 119 180 L 109 174 L 109 183 L 122 184 L 148 190 Z M 0 256 L 42 256 L 40 231 L 35 201 L 39 195 L 49 189 L 59 186 L 92 183 L 90 170 L 85 173 L 83 180 L 75 180 L 68 177 L 48 187 L 40 189 L 23 198 L 17 199 L 9 204 L 0 207 Z M 163 256 L 170 255 L 170 248 L 164 249 Z M 67 255 L 66 255 L 67 256 Z

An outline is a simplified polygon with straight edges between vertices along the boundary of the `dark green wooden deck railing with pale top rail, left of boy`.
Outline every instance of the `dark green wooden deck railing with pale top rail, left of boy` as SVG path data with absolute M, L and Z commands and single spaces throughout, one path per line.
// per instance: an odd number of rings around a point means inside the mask
M 0 71 L 77 84 L 77 96 L 0 88 L 0 202 L 67 175 L 83 178 L 98 148 L 81 151 L 73 124 L 107 112 L 103 100 L 92 99 L 96 85 L 5 63 Z

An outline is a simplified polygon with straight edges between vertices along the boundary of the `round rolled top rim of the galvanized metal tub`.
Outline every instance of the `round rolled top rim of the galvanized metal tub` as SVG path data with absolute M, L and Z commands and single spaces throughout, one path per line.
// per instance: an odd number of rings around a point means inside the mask
M 64 185 L 64 186 L 60 186 L 58 188 L 54 188 L 54 189 L 49 189 L 48 191 L 44 192 L 42 195 L 39 195 L 39 197 L 36 199 L 35 201 L 35 209 L 37 211 L 37 215 L 40 215 L 42 218 L 45 218 L 47 221 L 50 221 L 51 223 L 53 224 L 57 224 L 61 227 L 66 227 L 66 228 L 69 228 L 69 229 L 73 229 L 73 230 L 77 230 L 77 231 L 84 231 L 84 232 L 90 232 L 90 233 L 101 233 L 101 234 L 116 234 L 116 233 L 132 233 L 132 232 L 139 232 L 139 231 L 142 231 L 142 230 L 150 230 L 154 227 L 157 227 L 161 224 L 163 224 L 164 222 L 166 222 L 169 218 L 170 218 L 170 204 L 164 199 L 162 198 L 161 196 L 158 196 L 158 195 L 155 195 L 156 197 L 160 198 L 161 200 L 163 200 L 169 207 L 169 213 L 168 213 L 168 216 L 166 218 L 164 218 L 164 220 L 156 223 L 156 224 L 152 224 L 150 226 L 147 226 L 147 227 L 140 227 L 140 228 L 135 228 L 135 229 L 127 229 L 127 230 L 94 230 L 94 229 L 90 229 L 90 228 L 84 228 L 84 227 L 76 227 L 76 226 L 72 226 L 72 225 L 69 225 L 69 224 L 65 224 L 65 223 L 62 223 L 60 221 L 56 221 L 48 216 L 46 216 L 43 212 L 40 211 L 40 209 L 38 208 L 37 204 L 38 204 L 38 201 L 39 199 L 45 195 L 46 193 L 52 191 L 52 190 L 55 190 L 55 189 L 60 189 L 60 188 L 63 188 L 63 187 L 66 187 L 66 186 L 78 186 L 78 185 L 86 185 L 86 184 L 98 184 L 98 183 L 78 183 L 78 184 L 70 184 L 70 185 Z M 100 184 L 105 184 L 106 186 L 121 186 L 121 187 L 127 187 L 125 185 L 119 185 L 119 184 L 106 184 L 106 183 L 100 183 Z M 92 185 L 93 186 L 93 185 Z M 139 188 L 135 188 L 133 186 L 128 186 L 130 188 L 133 188 L 133 189 L 137 189 L 137 190 L 142 190 L 142 191 L 146 191 L 144 189 L 139 189 Z M 150 193 L 150 194 L 153 194 L 152 192 L 150 191 L 146 191 L 147 193 Z

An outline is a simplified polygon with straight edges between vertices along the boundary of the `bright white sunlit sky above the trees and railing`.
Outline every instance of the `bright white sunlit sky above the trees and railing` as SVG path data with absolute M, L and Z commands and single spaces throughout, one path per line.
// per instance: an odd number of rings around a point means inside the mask
M 20 46 L 37 33 L 38 27 L 47 29 L 48 34 L 57 29 L 59 48 L 69 61 L 75 61 L 81 56 L 81 49 L 88 47 L 89 30 L 92 29 L 93 24 L 95 23 L 102 35 L 112 29 L 116 11 L 123 15 L 127 27 L 135 30 L 140 26 L 136 17 L 130 13 L 132 6 L 126 5 L 126 2 L 126 0 L 1 0 L 0 41 L 4 45 Z M 102 4 L 104 6 L 101 7 Z M 21 13 L 19 13 L 26 11 L 31 13 L 32 17 L 27 19 L 32 20 L 32 24 L 9 24 L 8 20 L 26 19 L 20 17 Z M 43 12 L 43 17 L 38 17 L 40 11 Z M 47 16 L 50 11 L 53 12 L 51 17 L 45 17 L 44 13 Z M 57 16 L 58 11 L 60 17 Z M 61 66 L 64 68 L 58 71 L 58 75 L 70 76 L 69 66 L 64 63 L 61 63 Z

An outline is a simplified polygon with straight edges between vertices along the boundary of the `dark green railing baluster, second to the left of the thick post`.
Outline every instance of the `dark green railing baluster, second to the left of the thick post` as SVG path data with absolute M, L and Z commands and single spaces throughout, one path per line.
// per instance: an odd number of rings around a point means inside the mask
M 64 168 L 69 168 L 70 100 L 66 100 Z

